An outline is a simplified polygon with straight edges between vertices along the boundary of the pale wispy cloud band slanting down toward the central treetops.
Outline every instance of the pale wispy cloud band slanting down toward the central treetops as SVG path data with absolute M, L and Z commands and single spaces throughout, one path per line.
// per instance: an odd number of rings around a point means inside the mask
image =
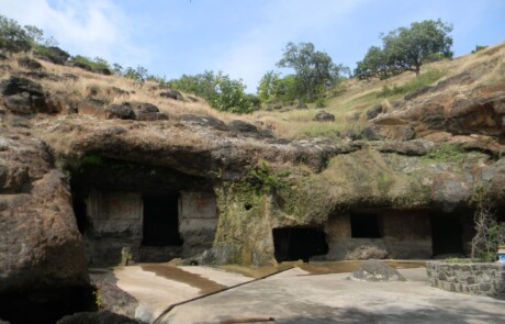
M 306 35 L 327 33 L 327 29 L 345 20 L 346 14 L 366 0 L 272 1 L 263 8 L 265 22 L 256 25 L 211 64 L 234 78 L 243 78 L 248 92 L 255 92 L 262 75 L 276 68 L 288 42 L 311 42 Z M 335 29 L 333 29 L 335 30 Z M 317 44 L 315 44 L 317 47 Z M 318 48 L 323 49 L 324 48 Z

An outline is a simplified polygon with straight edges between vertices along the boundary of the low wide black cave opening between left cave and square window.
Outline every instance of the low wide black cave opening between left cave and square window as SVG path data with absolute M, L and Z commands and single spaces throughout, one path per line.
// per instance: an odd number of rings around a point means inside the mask
M 307 262 L 311 257 L 326 255 L 328 244 L 326 234 L 311 227 L 273 228 L 274 256 L 278 262 L 302 259 Z

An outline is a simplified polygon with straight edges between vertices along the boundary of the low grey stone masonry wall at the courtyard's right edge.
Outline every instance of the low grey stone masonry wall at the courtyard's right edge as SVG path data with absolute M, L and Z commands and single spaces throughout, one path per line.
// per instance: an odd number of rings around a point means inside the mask
M 447 291 L 505 297 L 505 264 L 426 262 L 433 287 Z

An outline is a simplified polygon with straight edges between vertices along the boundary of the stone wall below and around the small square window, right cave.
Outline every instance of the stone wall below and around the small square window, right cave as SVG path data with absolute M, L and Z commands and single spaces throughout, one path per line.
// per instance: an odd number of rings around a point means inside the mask
M 350 214 L 329 217 L 326 259 L 426 259 L 433 254 L 427 211 L 382 211 L 377 214 L 381 237 L 352 237 Z

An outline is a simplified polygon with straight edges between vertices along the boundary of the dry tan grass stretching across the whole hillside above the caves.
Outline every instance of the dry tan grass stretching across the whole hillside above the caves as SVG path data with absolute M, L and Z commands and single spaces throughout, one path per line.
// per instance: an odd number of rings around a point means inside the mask
M 13 70 L 24 70 L 18 66 L 14 56 L 13 59 L 3 63 L 12 67 Z M 390 102 L 399 100 L 403 94 L 395 94 L 388 98 L 381 98 L 378 94 L 384 87 L 401 87 L 415 79 L 413 72 L 404 72 L 388 80 L 359 81 L 348 80 L 345 83 L 345 91 L 338 96 L 327 98 L 327 107 L 316 109 L 314 104 L 308 104 L 307 110 L 298 110 L 295 107 L 287 107 L 281 111 L 259 110 L 248 115 L 237 115 L 232 113 L 220 112 L 212 109 L 204 100 L 198 101 L 176 101 L 161 98 L 159 93 L 162 90 L 156 89 L 153 82 L 138 85 L 137 82 L 115 76 L 103 76 L 85 71 L 80 68 L 64 67 L 47 62 L 41 62 L 47 72 L 56 75 L 72 74 L 79 77 L 77 81 L 66 80 L 54 82 L 42 80 L 44 88 L 49 92 L 58 91 L 69 98 L 80 99 L 89 94 L 91 87 L 101 89 L 101 94 L 111 103 L 123 101 L 142 101 L 149 102 L 159 108 L 161 112 L 169 116 L 176 116 L 184 113 L 209 114 L 217 119 L 229 121 L 242 119 L 251 123 L 262 124 L 263 127 L 273 130 L 280 136 L 289 138 L 306 138 L 316 136 L 335 137 L 338 133 L 345 131 L 360 132 L 367 124 L 364 112 L 371 107 L 381 103 L 386 109 Z M 505 79 L 505 43 L 487 47 L 476 54 L 460 56 L 452 60 L 442 60 L 423 66 L 423 71 L 442 70 L 446 77 L 451 77 L 463 71 L 475 72 L 480 76 L 476 82 L 471 87 L 480 85 L 491 85 Z M 422 72 L 423 72 L 422 71 Z M 0 70 L 1 77 L 7 77 L 9 72 Z M 435 81 L 436 82 L 436 81 Z M 111 87 L 128 91 L 130 94 L 121 96 L 106 93 Z M 464 90 L 463 86 L 451 86 L 448 90 Z M 183 93 L 184 94 L 184 93 Z M 186 98 L 188 96 L 184 96 Z M 335 115 L 335 122 L 321 123 L 314 121 L 318 111 L 326 111 Z

